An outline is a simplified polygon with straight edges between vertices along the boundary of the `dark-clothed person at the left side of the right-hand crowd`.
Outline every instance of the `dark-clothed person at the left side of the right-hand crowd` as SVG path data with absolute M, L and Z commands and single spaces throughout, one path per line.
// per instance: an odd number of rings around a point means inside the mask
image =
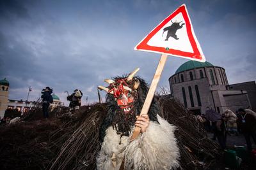
M 225 123 L 223 122 L 220 113 L 210 109 L 209 107 L 206 108 L 205 111 L 205 118 L 212 122 L 212 130 L 214 135 L 218 139 L 218 142 L 221 148 L 226 148 L 226 138 L 225 138 Z

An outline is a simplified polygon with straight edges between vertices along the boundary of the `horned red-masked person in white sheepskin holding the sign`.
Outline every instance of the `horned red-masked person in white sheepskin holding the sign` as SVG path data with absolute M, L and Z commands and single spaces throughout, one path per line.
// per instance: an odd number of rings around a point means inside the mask
M 175 127 L 159 117 L 159 106 L 153 99 L 148 115 L 140 115 L 147 96 L 147 83 L 129 76 L 105 80 L 108 87 L 108 113 L 100 127 L 101 150 L 97 169 L 175 169 L 179 167 L 179 148 L 173 132 Z M 141 128 L 131 141 L 134 125 Z

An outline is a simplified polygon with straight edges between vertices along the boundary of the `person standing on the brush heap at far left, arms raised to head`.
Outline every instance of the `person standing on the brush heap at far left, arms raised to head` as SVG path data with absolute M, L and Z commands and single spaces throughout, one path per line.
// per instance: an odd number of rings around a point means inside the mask
M 50 87 L 45 87 L 45 89 L 42 90 L 42 100 L 43 100 L 43 113 L 44 113 L 44 118 L 49 118 L 49 113 L 48 113 L 48 108 L 50 106 L 50 103 L 53 102 L 52 99 L 52 89 Z

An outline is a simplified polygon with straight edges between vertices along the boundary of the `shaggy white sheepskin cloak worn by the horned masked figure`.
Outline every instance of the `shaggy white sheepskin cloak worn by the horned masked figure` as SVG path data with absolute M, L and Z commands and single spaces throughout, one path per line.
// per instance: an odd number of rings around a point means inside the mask
M 125 155 L 125 169 L 176 169 L 179 167 L 179 148 L 174 136 L 175 127 L 157 115 L 146 132 L 130 142 L 130 137 L 116 134 L 113 127 L 97 155 L 97 169 L 119 170 Z M 120 143 L 121 141 L 121 143 Z

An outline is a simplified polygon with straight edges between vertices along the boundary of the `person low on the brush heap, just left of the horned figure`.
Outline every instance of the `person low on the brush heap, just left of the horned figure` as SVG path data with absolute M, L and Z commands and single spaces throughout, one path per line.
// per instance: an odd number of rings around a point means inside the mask
M 83 93 L 81 90 L 74 90 L 74 93 L 72 93 L 70 96 L 67 97 L 67 100 L 70 101 L 69 107 L 70 110 L 79 110 L 81 106 L 81 98 L 83 96 Z

